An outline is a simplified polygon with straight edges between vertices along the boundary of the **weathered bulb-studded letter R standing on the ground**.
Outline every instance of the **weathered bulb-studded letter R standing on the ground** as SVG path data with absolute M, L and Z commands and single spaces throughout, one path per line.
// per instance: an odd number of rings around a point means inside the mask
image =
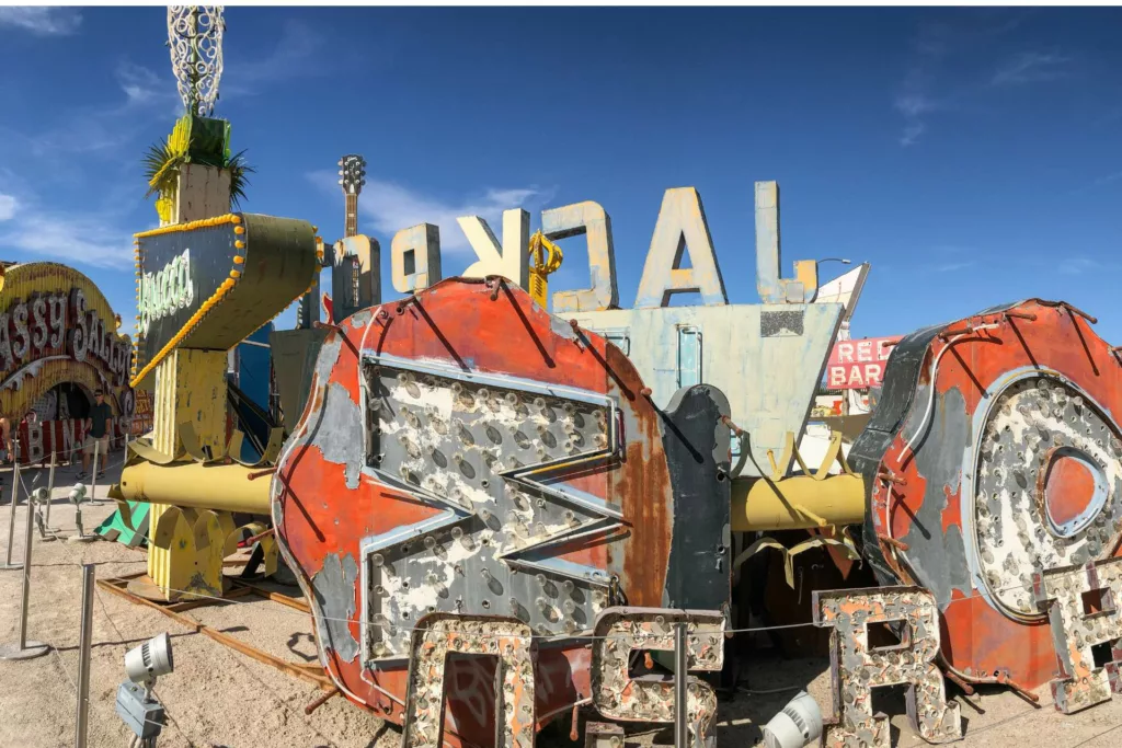
M 833 590 L 813 593 L 815 625 L 831 626 L 830 671 L 834 712 L 840 718 L 824 733 L 828 747 L 889 748 L 889 720 L 873 713 L 873 689 L 908 685 L 908 718 L 928 742 L 963 737 L 958 703 L 948 702 L 939 653 L 935 595 L 918 587 Z M 870 647 L 870 624 L 898 624 L 900 645 Z

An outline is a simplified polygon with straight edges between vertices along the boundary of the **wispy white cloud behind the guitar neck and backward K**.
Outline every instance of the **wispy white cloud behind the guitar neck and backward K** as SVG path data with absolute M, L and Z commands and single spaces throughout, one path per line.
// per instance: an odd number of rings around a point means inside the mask
M 309 178 L 324 190 L 338 194 L 335 175 L 316 172 Z M 553 190 L 539 187 L 490 188 L 476 197 L 447 201 L 424 195 L 408 187 L 381 179 L 368 179 L 359 195 L 359 230 L 369 221 L 374 231 L 384 237 L 393 237 L 402 229 L 419 223 L 440 227 L 440 248 L 447 252 L 470 252 L 467 237 L 456 219 L 478 215 L 487 221 L 496 238 L 503 239 L 503 211 L 515 207 L 540 207 L 553 196 Z M 340 211 L 341 213 L 341 211 Z M 373 233 L 373 232 L 371 232 Z

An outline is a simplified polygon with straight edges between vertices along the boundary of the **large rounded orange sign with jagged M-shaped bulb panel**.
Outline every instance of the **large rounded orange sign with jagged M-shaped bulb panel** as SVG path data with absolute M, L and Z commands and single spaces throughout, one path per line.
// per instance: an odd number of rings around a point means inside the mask
M 589 696 L 581 637 L 617 597 L 661 604 L 673 527 L 690 520 L 674 497 L 693 475 L 672 473 L 671 425 L 643 389 L 617 349 L 505 281 L 448 279 L 328 332 L 273 515 L 319 640 L 340 638 L 327 619 L 343 618 L 359 644 L 353 659 L 320 652 L 348 699 L 404 720 L 410 629 L 432 613 L 507 617 L 546 637 L 536 714 Z M 715 430 L 688 430 L 705 444 L 673 436 L 675 452 L 720 451 Z M 350 616 L 314 595 L 332 558 L 358 569 Z M 728 563 L 707 564 L 727 583 Z M 690 593 L 675 595 L 696 607 Z M 448 659 L 449 744 L 490 744 L 493 672 Z

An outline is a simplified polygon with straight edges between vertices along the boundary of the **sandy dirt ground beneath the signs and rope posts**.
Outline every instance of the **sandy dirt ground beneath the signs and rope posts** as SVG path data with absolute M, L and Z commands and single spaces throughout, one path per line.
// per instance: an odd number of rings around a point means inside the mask
M 113 454 L 120 460 L 120 452 Z M 25 471 L 30 481 L 38 471 Z M 75 468 L 56 477 L 52 525 L 61 536 L 73 535 L 74 510 L 66 493 Z M 110 469 L 110 477 L 114 477 Z M 0 554 L 7 551 L 10 472 L 3 478 L 0 507 Z M 46 471 L 39 484 L 46 484 Z M 98 497 L 105 496 L 103 481 Z M 85 526 L 94 527 L 113 509 L 111 502 L 83 510 Z M 26 504 L 16 511 L 13 556 L 22 557 Z M 96 564 L 99 578 L 141 572 L 145 554 L 117 543 L 65 541 L 34 545 L 28 636 L 52 646 L 44 657 L 0 662 L 0 747 L 56 748 L 74 745 L 81 600 L 81 564 Z M 2 560 L 2 556 L 0 556 Z M 18 640 L 18 612 L 22 572 L 0 571 L 0 643 Z M 238 602 L 196 608 L 187 615 L 276 656 L 296 663 L 315 661 L 310 618 L 291 608 L 255 597 Z M 125 748 L 130 732 L 114 712 L 117 686 L 126 680 L 125 653 L 162 631 L 172 636 L 175 672 L 159 680 L 156 693 L 167 710 L 167 727 L 159 745 L 167 748 L 388 748 L 401 744 L 401 731 L 350 705 L 341 698 L 328 701 L 311 715 L 304 707 L 322 692 L 268 665 L 180 626 L 155 610 L 130 603 L 102 590 L 94 600 L 94 636 L 90 677 L 91 748 Z M 761 654 L 742 674 L 745 692 L 720 702 L 716 735 L 720 746 L 748 747 L 761 739 L 760 728 L 792 698 L 807 689 L 819 704 L 830 708 L 829 666 L 825 658 L 780 661 Z M 775 692 L 778 691 L 778 692 Z M 966 738 L 963 746 L 1019 746 L 1020 748 L 1106 748 L 1122 745 L 1122 696 L 1082 713 L 1063 715 L 1040 691 L 1042 708 L 1004 690 L 963 696 Z M 908 726 L 899 693 L 886 694 L 882 708 L 892 719 L 894 746 L 926 745 Z M 582 721 L 597 719 L 586 712 Z M 539 745 L 572 746 L 569 719 L 548 728 Z M 628 745 L 672 745 L 669 726 L 632 724 Z

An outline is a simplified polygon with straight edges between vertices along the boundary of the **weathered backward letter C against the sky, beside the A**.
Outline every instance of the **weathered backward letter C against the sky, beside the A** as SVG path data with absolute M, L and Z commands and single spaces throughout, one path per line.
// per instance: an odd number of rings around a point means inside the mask
M 616 253 L 611 246 L 611 219 L 599 203 L 586 201 L 542 211 L 542 232 L 554 241 L 588 237 L 588 268 L 592 285 L 553 294 L 553 313 L 603 312 L 619 306 L 616 289 Z

